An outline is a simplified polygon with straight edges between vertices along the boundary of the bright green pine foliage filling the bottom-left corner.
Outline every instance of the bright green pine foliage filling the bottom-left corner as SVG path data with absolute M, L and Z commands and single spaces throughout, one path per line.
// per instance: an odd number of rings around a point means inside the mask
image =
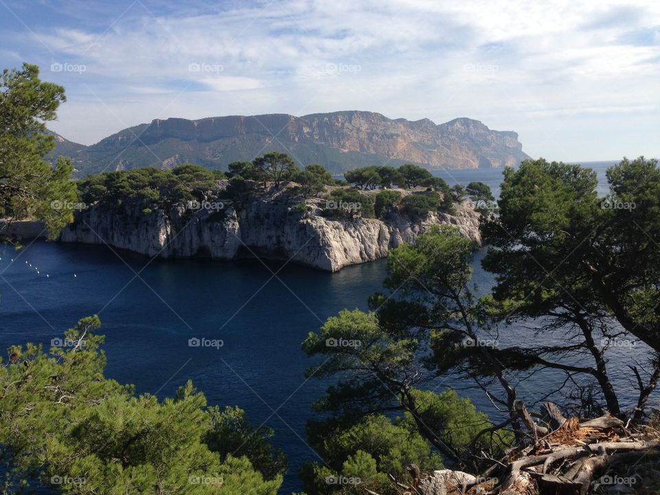
M 99 325 L 83 318 L 65 345 L 14 346 L 0 362 L 3 493 L 277 493 L 286 463 L 270 430 L 207 407 L 190 382 L 159 401 L 105 378 Z

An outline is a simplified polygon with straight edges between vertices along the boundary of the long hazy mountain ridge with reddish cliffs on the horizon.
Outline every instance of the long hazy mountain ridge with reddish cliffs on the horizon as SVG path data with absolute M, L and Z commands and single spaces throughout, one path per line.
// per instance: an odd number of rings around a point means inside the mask
M 386 163 L 491 168 L 527 158 L 518 134 L 492 131 L 478 120 L 457 118 L 437 125 L 428 119 L 392 120 L 368 111 L 168 118 L 124 129 L 91 146 L 59 135 L 56 141 L 54 155 L 72 157 L 78 177 L 142 166 L 170 168 L 183 162 L 222 169 L 267 151 L 284 151 L 298 165 L 319 163 L 337 174 Z

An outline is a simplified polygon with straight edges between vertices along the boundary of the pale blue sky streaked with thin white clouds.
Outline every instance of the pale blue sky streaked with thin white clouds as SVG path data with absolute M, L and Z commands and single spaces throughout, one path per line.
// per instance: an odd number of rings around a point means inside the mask
M 170 117 L 375 111 L 516 131 L 532 157 L 660 157 L 659 1 L 0 0 L 0 65 L 93 144 Z

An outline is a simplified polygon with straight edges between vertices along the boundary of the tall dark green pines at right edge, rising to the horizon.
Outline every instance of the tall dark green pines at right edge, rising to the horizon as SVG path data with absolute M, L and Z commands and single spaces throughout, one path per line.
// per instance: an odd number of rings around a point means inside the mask
M 595 172 L 579 165 L 538 159 L 505 170 L 499 214 L 486 225 L 493 247 L 483 265 L 497 284 L 485 307 L 495 320 L 542 321 L 561 336 L 553 347 L 510 349 L 518 365 L 591 376 L 612 414 L 639 417 L 660 377 L 660 169 L 623 159 L 607 177 L 610 193 L 599 198 Z M 631 369 L 639 398 L 628 412 L 607 366 L 617 338 L 648 345 L 646 377 Z M 593 364 L 566 366 L 566 353 Z

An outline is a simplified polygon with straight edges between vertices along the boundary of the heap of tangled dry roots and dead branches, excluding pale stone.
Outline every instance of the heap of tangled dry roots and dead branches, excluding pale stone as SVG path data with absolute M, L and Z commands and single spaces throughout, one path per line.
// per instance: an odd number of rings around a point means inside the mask
M 655 465 L 639 465 L 645 457 L 660 457 L 660 434 L 650 430 L 630 432 L 623 421 L 609 415 L 588 421 L 564 419 L 550 403 L 544 404 L 540 415 L 547 426 L 528 425 L 531 417 L 524 406 L 516 410 L 527 415 L 523 421 L 535 437 L 544 428 L 549 432 L 536 438 L 531 448 L 521 451 L 522 455 L 510 459 L 490 494 L 585 495 L 595 489 L 608 493 L 610 488 L 617 493 L 643 493 L 644 480 L 638 475 L 644 469 L 647 472 L 643 478 L 657 475 L 660 482 Z M 648 493 L 653 493 L 651 490 Z

